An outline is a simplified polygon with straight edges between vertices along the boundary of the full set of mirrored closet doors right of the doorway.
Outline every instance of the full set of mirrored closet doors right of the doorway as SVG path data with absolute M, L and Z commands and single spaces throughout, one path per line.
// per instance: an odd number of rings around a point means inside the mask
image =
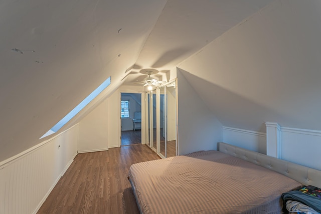
M 177 154 L 176 81 L 145 92 L 146 144 L 159 156 Z

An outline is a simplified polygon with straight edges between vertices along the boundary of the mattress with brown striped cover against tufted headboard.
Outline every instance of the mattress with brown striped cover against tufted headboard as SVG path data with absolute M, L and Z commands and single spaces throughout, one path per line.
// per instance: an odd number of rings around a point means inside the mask
M 282 213 L 281 194 L 301 184 L 219 151 L 131 165 L 141 213 Z

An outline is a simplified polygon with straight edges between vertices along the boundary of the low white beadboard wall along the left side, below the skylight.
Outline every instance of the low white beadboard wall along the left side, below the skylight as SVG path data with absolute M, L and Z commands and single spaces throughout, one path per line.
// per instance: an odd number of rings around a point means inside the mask
M 77 124 L 0 163 L 0 214 L 38 211 L 76 156 L 78 134 Z

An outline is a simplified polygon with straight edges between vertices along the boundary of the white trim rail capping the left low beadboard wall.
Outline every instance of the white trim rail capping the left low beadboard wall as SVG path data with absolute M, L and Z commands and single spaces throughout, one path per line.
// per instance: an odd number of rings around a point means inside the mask
M 15 155 L 15 156 L 12 156 L 12 157 L 10 157 L 10 158 L 8 158 L 8 159 L 0 162 L 0 170 L 3 169 L 3 168 L 5 168 L 6 166 L 10 165 L 11 163 L 14 163 L 15 161 L 19 160 L 20 158 L 26 156 L 26 155 L 29 154 L 30 152 L 40 149 L 41 147 L 43 147 L 44 145 L 46 145 L 47 143 L 49 143 L 49 142 L 52 141 L 53 139 L 59 137 L 60 135 L 62 135 L 63 133 L 69 131 L 70 129 L 74 128 L 74 127 L 77 126 L 77 125 L 79 125 L 79 123 L 73 125 L 72 127 L 66 129 L 66 130 L 63 131 L 63 132 L 60 132 L 59 134 L 53 136 L 52 138 L 50 138 L 50 139 L 48 139 L 48 140 L 45 140 L 45 141 L 43 141 L 43 142 L 41 142 L 41 143 L 39 143 L 39 144 L 37 144 L 37 145 L 35 145 L 35 146 L 33 146 L 33 147 L 25 150 L 25 151 L 23 151 L 23 152 Z M 78 143 L 77 143 L 77 144 L 78 144 Z

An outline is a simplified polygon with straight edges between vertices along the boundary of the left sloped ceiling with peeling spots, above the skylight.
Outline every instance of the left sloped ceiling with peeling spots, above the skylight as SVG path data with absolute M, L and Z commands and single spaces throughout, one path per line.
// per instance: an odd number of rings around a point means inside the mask
M 165 3 L 1 1 L 0 161 L 41 142 L 109 76 L 120 85 Z

